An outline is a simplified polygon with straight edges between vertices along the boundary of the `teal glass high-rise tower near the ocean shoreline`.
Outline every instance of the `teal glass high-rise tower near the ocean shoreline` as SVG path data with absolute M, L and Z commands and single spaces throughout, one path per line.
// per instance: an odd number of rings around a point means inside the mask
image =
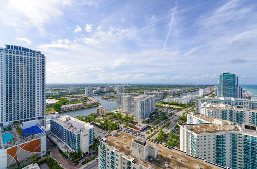
M 243 98 L 243 89 L 238 85 L 238 76 L 227 71 L 219 75 L 218 97 Z

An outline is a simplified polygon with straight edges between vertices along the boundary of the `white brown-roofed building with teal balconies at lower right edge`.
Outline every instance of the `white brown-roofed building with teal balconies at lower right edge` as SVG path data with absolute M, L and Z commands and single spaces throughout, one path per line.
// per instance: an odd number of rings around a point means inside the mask
M 187 114 L 180 126 L 180 150 L 230 168 L 256 168 L 255 125 L 236 124 L 203 114 Z

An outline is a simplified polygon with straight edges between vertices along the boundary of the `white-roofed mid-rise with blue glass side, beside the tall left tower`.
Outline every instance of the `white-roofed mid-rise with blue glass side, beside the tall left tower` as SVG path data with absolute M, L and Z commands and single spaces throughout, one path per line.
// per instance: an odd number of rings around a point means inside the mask
M 94 127 L 69 115 L 53 115 L 51 134 L 59 138 L 71 151 L 88 152 L 94 141 Z

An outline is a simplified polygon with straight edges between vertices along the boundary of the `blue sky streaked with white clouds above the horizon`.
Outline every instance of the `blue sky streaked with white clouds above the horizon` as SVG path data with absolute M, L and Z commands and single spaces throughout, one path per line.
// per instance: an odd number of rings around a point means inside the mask
M 0 2 L 0 43 L 46 55 L 47 83 L 257 83 L 255 1 Z

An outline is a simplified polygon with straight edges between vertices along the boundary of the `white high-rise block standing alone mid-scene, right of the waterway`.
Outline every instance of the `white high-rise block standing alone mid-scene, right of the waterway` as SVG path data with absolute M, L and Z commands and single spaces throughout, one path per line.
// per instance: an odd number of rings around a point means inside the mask
M 124 112 L 133 112 L 137 121 L 149 118 L 155 111 L 155 95 L 122 96 L 121 108 Z

